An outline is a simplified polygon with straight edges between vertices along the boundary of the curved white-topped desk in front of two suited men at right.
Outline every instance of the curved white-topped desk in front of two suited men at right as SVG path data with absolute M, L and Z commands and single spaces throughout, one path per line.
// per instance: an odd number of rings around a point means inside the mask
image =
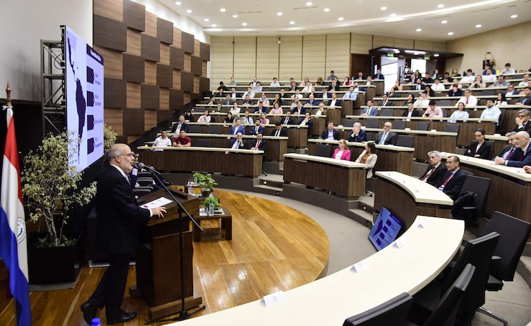
M 410 227 L 417 215 L 450 218 L 454 201 L 436 187 L 400 172 L 376 172 L 376 175 L 374 210 L 379 212 L 385 206 L 405 227 Z

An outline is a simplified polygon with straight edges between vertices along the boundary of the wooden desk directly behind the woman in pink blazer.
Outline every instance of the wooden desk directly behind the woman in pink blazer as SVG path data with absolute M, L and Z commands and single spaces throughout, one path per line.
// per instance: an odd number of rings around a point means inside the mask
M 317 154 L 317 144 L 329 144 L 332 147 L 330 155 L 334 153 L 339 141 L 325 141 L 323 139 L 308 139 L 308 154 Z M 351 152 L 350 161 L 354 162 L 359 154 L 365 150 L 365 143 L 347 142 Z M 398 171 L 411 175 L 413 173 L 413 152 L 412 147 L 376 145 L 378 149 L 378 160 L 374 166 L 376 171 Z

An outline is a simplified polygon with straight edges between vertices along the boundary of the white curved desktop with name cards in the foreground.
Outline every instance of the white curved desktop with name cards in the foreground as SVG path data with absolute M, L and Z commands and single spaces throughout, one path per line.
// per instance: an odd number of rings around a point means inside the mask
M 388 245 L 358 262 L 364 267 L 359 272 L 347 267 L 283 292 L 282 300 L 267 307 L 256 300 L 171 325 L 343 325 L 403 292 L 419 292 L 452 260 L 463 233 L 463 221 L 417 216 L 399 238 L 402 247 Z

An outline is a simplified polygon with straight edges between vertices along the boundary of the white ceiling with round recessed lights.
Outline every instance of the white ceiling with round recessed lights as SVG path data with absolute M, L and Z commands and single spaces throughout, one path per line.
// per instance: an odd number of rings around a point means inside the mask
M 159 1 L 203 26 L 207 34 L 230 37 L 354 32 L 449 41 L 531 18 L 531 0 L 313 0 L 311 5 L 307 0 L 181 0 L 180 6 L 175 0 Z M 384 6 L 387 9 L 381 10 Z M 325 8 L 330 10 L 325 12 Z M 233 18 L 234 14 L 238 17 Z M 513 14 L 518 17 L 510 18 Z

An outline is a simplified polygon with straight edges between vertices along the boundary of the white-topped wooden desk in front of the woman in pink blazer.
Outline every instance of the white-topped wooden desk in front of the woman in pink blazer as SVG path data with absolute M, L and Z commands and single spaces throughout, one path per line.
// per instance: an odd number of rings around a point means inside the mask
M 285 154 L 284 158 L 285 183 L 318 187 L 348 200 L 365 192 L 365 164 L 305 154 Z

